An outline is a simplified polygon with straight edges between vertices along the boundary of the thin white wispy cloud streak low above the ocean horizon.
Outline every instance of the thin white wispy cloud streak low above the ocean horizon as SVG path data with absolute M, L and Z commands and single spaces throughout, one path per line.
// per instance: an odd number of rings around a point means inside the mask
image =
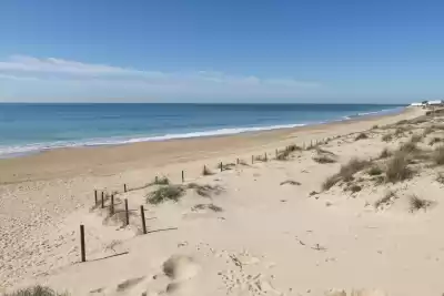
M 77 89 L 85 89 L 110 95 L 137 93 L 139 96 L 194 98 L 220 95 L 246 98 L 252 95 L 294 96 L 320 88 L 317 82 L 299 81 L 289 78 L 259 78 L 255 75 L 233 75 L 216 71 L 160 72 L 107 64 L 84 63 L 56 58 L 39 59 L 12 55 L 0 61 L 0 79 L 37 81 L 46 88 L 61 82 L 71 83 Z M 59 93 L 59 92 L 58 92 Z M 210 98 L 211 99 L 211 98 Z

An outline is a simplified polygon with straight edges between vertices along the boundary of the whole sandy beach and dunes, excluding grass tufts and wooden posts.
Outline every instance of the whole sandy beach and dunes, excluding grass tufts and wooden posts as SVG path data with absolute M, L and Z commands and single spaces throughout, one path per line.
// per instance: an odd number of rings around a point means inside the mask
M 353 181 L 322 191 L 325 178 L 352 157 L 373 160 L 385 170 L 386 160 L 376 161 L 384 147 L 395 150 L 410 133 L 422 134 L 444 120 L 427 116 L 383 127 L 423 112 L 2 160 L 0 293 L 42 284 L 71 295 L 441 295 L 441 167 L 417 157 L 406 181 L 379 183 L 364 169 Z M 380 127 L 372 129 L 375 124 Z M 391 141 L 381 140 L 397 127 L 403 131 Z M 355 141 L 361 131 L 369 139 Z M 333 136 L 321 150 L 273 160 L 275 149 Z M 435 127 L 418 145 L 433 150 L 438 144 L 428 142 L 442 136 Z M 268 162 L 251 164 L 251 155 L 264 153 Z M 320 156 L 335 162 L 313 161 Z M 220 162 L 238 157 L 245 165 L 220 172 Z M 213 174 L 202 176 L 203 165 Z M 181 184 L 182 170 L 185 185 L 212 186 L 208 196 L 188 188 L 176 203 L 147 204 L 145 195 L 160 187 L 147 183 L 165 175 Z M 115 215 L 109 215 L 110 200 L 104 210 L 94 206 L 94 188 L 117 191 Z M 394 195 L 376 203 L 389 190 Z M 426 208 L 412 210 L 412 194 L 430 201 Z M 125 198 L 130 226 L 123 226 Z M 141 235 L 140 205 L 147 235 Z M 79 263 L 80 224 L 87 263 Z

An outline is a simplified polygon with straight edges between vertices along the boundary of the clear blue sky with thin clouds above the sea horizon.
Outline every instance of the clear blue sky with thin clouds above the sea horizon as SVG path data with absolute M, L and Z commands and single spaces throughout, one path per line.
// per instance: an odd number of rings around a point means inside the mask
M 444 1 L 1 0 L 0 102 L 444 99 Z

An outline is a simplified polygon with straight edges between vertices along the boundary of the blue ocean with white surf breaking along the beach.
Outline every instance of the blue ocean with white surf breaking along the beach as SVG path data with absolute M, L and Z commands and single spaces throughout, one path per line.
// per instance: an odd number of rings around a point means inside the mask
M 400 112 L 374 104 L 0 104 L 0 157 L 295 127 Z

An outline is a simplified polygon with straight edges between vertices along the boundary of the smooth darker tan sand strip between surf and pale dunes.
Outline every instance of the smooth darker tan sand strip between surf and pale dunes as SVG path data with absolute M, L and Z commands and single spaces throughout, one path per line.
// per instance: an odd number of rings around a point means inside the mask
M 395 114 L 359 116 L 291 129 L 117 145 L 60 147 L 19 157 L 1 159 L 0 167 L 3 170 L 0 172 L 0 184 L 69 177 L 85 173 L 118 174 L 125 171 L 125 167 L 161 167 L 178 162 L 211 157 L 226 160 L 233 154 L 244 157 L 244 154 L 259 150 L 274 151 L 291 143 L 302 145 L 303 142 L 367 130 L 375 122 L 398 121 L 422 113 L 422 110 L 405 108 Z

